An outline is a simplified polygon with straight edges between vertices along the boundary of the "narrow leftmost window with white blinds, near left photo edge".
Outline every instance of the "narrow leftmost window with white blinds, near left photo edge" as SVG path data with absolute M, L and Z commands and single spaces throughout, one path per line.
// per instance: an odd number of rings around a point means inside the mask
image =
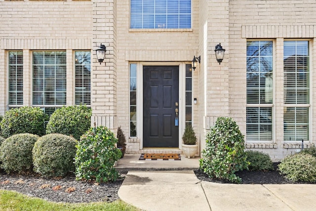
M 23 104 L 23 51 L 8 52 L 9 106 Z

